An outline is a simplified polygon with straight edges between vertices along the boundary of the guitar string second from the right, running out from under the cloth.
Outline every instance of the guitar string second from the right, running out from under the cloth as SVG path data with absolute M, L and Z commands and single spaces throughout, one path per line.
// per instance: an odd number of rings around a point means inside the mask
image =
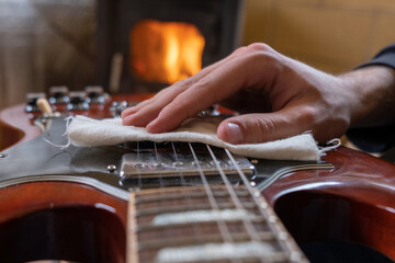
M 236 195 L 229 180 L 226 178 L 226 174 L 224 173 L 224 170 L 218 164 L 218 160 L 216 159 L 213 150 L 211 149 L 211 147 L 208 145 L 206 145 L 206 147 L 207 147 L 208 152 L 210 152 L 210 155 L 211 155 L 211 157 L 212 157 L 212 159 L 213 159 L 213 161 L 214 161 L 214 163 L 215 163 L 215 165 L 216 165 L 216 168 L 217 168 L 217 170 L 219 172 L 221 178 L 223 179 L 223 181 L 225 183 L 226 188 L 228 190 L 228 193 L 229 193 L 229 195 L 232 197 L 232 201 L 234 202 L 236 208 L 237 209 L 244 209 L 242 204 L 241 204 L 240 199 L 237 197 L 237 195 Z M 239 175 L 241 176 L 241 174 L 239 174 Z M 248 235 L 250 236 L 251 240 L 257 241 L 257 242 L 261 241 L 259 236 L 255 231 L 252 222 L 248 218 L 244 219 L 242 224 L 244 224 Z

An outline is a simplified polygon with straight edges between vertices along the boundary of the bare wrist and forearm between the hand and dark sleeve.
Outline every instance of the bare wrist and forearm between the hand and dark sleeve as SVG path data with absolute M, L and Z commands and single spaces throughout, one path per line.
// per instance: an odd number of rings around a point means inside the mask
M 354 94 L 350 104 L 350 127 L 388 125 L 395 122 L 395 70 L 370 66 L 339 77 L 345 92 Z

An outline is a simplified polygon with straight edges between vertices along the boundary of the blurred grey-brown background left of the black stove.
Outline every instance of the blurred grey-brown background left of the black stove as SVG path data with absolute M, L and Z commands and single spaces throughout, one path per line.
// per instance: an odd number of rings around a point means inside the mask
M 0 108 L 93 79 L 94 0 L 0 0 Z

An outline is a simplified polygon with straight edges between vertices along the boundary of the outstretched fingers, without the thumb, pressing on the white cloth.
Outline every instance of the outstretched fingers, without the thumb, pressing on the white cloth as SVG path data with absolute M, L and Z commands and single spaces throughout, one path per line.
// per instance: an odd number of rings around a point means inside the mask
M 185 118 L 224 101 L 238 90 L 257 88 L 260 92 L 266 85 L 278 83 L 278 70 L 285 65 L 284 61 L 280 62 L 279 58 L 280 56 L 266 45 L 239 48 L 198 75 L 162 90 L 134 108 L 126 110 L 122 114 L 123 124 L 146 126 L 149 133 L 171 130 Z M 281 91 L 275 93 L 282 94 Z M 286 102 L 287 99 L 282 101 Z

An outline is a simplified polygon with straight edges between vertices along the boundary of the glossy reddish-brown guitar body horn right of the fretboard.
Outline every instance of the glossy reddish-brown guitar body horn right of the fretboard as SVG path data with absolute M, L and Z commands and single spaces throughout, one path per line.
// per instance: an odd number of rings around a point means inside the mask
M 334 171 L 283 178 L 263 195 L 300 243 L 349 240 L 395 260 L 395 165 L 339 148 L 323 158 Z

